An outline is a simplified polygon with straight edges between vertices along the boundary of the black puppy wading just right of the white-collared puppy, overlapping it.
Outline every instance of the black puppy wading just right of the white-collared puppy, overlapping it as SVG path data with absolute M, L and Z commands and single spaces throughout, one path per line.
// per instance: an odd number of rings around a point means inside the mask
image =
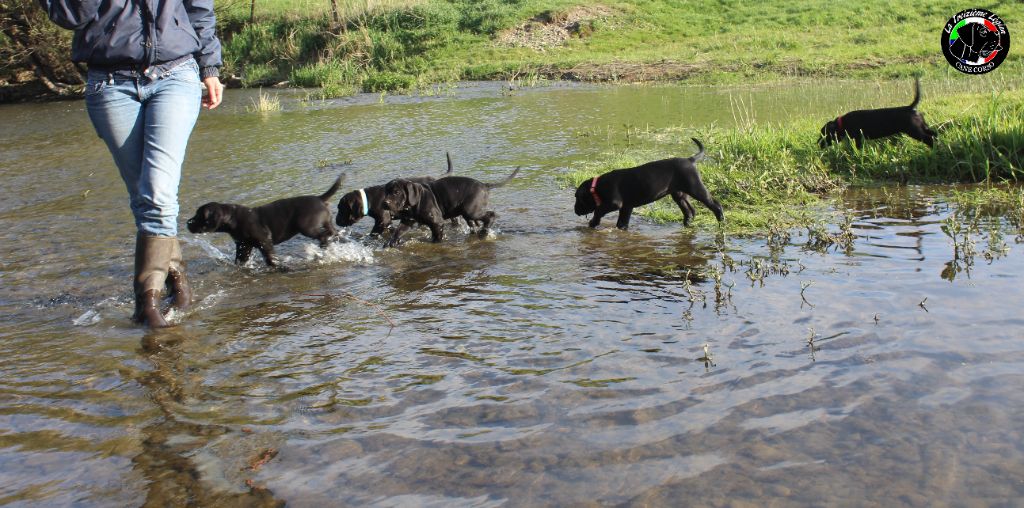
M 518 172 L 519 168 L 515 168 L 498 183 L 483 183 L 466 176 L 447 176 L 431 183 L 400 178 L 389 181 L 384 185 L 384 207 L 401 223 L 387 246 L 398 245 L 401 234 L 416 222 L 430 227 L 433 242 L 444 239 L 441 226 L 451 218 L 462 217 L 470 226 L 481 225 L 481 231 L 486 230 L 498 216 L 486 210 L 490 189 L 508 183 Z

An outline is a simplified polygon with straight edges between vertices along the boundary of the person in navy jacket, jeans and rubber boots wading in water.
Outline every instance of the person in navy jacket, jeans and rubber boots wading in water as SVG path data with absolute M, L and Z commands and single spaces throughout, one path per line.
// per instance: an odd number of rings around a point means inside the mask
M 132 319 L 166 327 L 165 286 L 173 307 L 191 304 L 177 240 L 181 163 L 200 105 L 216 108 L 223 93 L 213 0 L 38 1 L 75 31 L 72 60 L 89 70 L 89 119 L 128 188 L 137 229 Z

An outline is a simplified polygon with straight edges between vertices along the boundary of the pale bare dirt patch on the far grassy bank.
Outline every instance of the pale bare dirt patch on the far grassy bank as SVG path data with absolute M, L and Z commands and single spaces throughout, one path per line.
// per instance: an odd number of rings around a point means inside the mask
M 559 12 L 545 11 L 499 34 L 497 44 L 544 51 L 561 46 L 572 37 L 587 37 L 594 32 L 595 20 L 610 17 L 613 13 L 603 5 L 580 5 Z

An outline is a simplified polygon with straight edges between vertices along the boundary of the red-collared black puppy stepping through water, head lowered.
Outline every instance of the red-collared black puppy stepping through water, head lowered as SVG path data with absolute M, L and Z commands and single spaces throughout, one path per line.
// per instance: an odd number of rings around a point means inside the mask
M 696 212 L 693 210 L 693 205 L 686 200 L 686 195 L 690 195 L 715 212 L 715 217 L 721 221 L 724 218 L 722 205 L 711 197 L 700 180 L 700 174 L 697 173 L 695 163 L 703 159 L 703 145 L 696 138 L 691 139 L 698 150 L 688 159 L 675 158 L 649 162 L 635 168 L 616 169 L 584 181 L 577 188 L 574 207 L 577 215 L 594 212 L 590 226 L 597 227 L 601 217 L 618 210 L 618 221 L 615 225 L 620 229 L 627 229 L 634 208 L 671 195 L 683 212 L 683 224 L 689 225 L 690 219 Z

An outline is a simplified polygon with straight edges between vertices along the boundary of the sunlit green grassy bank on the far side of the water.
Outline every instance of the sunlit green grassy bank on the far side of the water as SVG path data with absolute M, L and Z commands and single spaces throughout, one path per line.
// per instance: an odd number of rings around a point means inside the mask
M 317 7 L 318 6 L 318 7 Z M 938 48 L 959 3 L 339 1 L 219 7 L 228 74 L 331 93 L 408 90 L 454 80 L 567 78 L 748 82 L 792 76 L 956 75 Z M 1024 18 L 1024 4 L 990 6 Z M 998 73 L 1020 74 L 1020 52 Z

